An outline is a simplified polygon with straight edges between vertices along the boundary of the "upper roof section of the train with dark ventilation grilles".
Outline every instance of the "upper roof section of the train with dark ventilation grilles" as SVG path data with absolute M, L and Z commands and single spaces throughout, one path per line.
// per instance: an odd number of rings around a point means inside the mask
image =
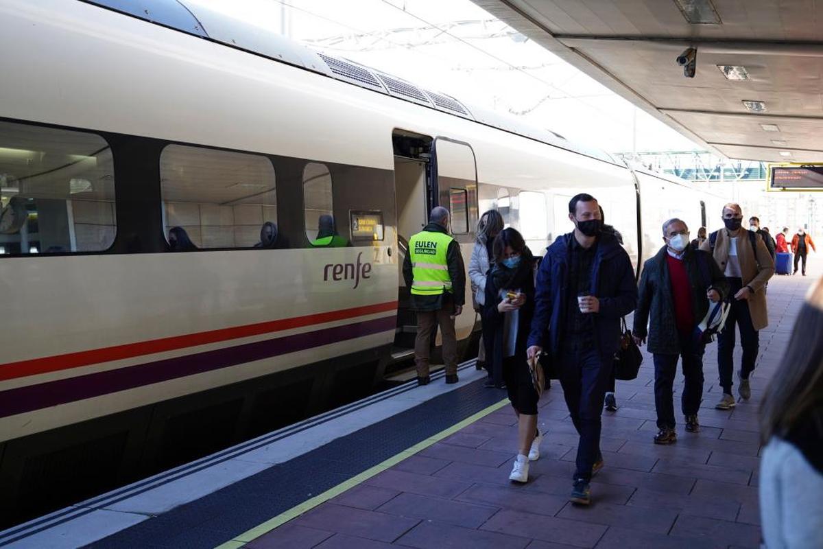
M 538 128 L 523 120 L 497 113 L 491 109 L 467 105 L 461 100 L 439 91 L 416 86 L 386 72 L 378 71 L 346 58 L 339 58 L 309 49 L 302 44 L 272 31 L 240 21 L 198 5 L 187 5 L 183 0 L 80 0 L 99 7 L 137 17 L 143 21 L 179 30 L 230 48 L 241 49 L 278 63 L 287 63 L 336 80 L 360 86 L 370 91 L 390 95 L 416 105 L 439 110 L 446 114 L 472 120 L 521 137 L 568 151 L 590 156 L 611 164 L 625 165 L 616 156 L 595 147 L 571 142 L 545 128 Z

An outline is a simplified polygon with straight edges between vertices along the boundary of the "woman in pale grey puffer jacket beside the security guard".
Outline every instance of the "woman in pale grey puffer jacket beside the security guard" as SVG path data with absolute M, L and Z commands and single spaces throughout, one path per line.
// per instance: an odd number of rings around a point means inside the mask
M 503 216 L 497 210 L 489 210 L 480 217 L 477 222 L 477 241 L 472 249 L 472 258 L 468 262 L 468 276 L 472 280 L 472 291 L 476 309 L 481 313 L 481 337 L 480 347 L 477 355 L 477 364 L 484 363 L 489 372 L 486 380 L 486 387 L 503 387 L 503 373 L 490 367 L 491 361 L 487 362 L 486 347 L 489 345 L 489 334 L 486 333 L 486 323 L 483 321 L 483 305 L 486 303 L 486 274 L 491 267 L 491 258 L 494 254 L 491 245 L 495 241 L 500 231 L 503 230 Z

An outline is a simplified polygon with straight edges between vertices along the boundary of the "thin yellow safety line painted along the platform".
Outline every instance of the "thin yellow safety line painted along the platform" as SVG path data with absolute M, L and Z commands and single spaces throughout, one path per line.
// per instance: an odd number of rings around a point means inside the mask
M 267 534 L 271 532 L 273 529 L 277 528 L 278 526 L 282 526 L 283 524 L 289 522 L 291 519 L 295 519 L 301 514 L 304 514 L 309 509 L 317 507 L 318 505 L 323 503 L 323 501 L 331 500 L 332 497 L 342 494 L 344 491 L 357 486 L 361 482 L 365 482 L 371 477 L 374 477 L 374 475 L 378 474 L 379 472 L 384 472 L 386 469 L 402 462 L 402 460 L 406 458 L 411 458 L 414 454 L 417 454 L 421 450 L 428 448 L 432 444 L 435 444 L 435 442 L 443 440 L 449 435 L 453 435 L 458 430 L 463 429 L 463 427 L 465 426 L 472 425 L 472 423 L 474 423 L 475 421 L 481 419 L 484 416 L 488 416 L 489 414 L 491 414 L 491 412 L 499 410 L 508 403 L 509 399 L 504 398 L 500 402 L 492 404 L 490 407 L 484 408 L 480 412 L 477 412 L 472 416 L 468 416 L 463 421 L 455 423 L 448 429 L 441 430 L 436 435 L 432 435 L 425 440 L 421 440 L 417 444 L 403 450 L 399 454 L 393 455 L 391 458 L 388 458 L 384 462 L 378 463 L 374 467 L 366 469 L 359 475 L 351 477 L 346 482 L 341 482 L 337 486 L 333 486 L 332 488 L 329 488 L 327 491 L 324 491 L 322 494 L 315 495 L 313 498 L 305 500 L 300 505 L 295 505 L 291 509 L 284 511 L 281 514 L 278 514 L 276 517 L 268 519 L 266 522 L 259 524 L 258 526 L 255 526 L 247 532 L 241 533 L 234 539 L 231 539 L 228 542 L 216 547 L 216 549 L 238 549 L 238 547 L 243 547 L 246 543 L 253 542 L 253 540 L 257 539 L 260 536 L 263 536 L 263 534 Z

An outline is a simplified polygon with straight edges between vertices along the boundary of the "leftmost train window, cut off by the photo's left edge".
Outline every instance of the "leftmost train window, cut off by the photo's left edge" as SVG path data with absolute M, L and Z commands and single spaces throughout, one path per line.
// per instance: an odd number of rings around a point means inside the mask
M 99 252 L 115 232 L 103 137 L 0 121 L 0 254 Z

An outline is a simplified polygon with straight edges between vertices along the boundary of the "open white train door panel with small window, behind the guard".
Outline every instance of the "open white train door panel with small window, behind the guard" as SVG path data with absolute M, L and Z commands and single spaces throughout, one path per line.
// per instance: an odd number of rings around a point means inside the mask
M 477 162 L 472 147 L 448 137 L 437 137 L 432 151 L 437 184 L 437 204 L 449 209 L 452 235 L 460 243 L 463 263 L 468 266 L 472 256 L 477 226 Z M 463 314 L 457 317 L 458 340 L 468 337 L 477 323 L 472 310 L 472 286 L 466 279 Z M 439 340 L 439 337 L 438 337 Z

